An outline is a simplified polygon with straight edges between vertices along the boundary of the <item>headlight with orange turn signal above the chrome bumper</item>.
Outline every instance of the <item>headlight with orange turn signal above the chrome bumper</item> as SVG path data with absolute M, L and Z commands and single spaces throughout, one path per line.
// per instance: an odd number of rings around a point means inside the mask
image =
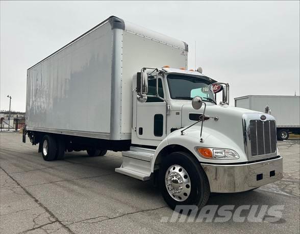
M 213 149 L 196 147 L 198 154 L 209 159 L 238 159 L 240 156 L 237 152 L 230 149 Z

